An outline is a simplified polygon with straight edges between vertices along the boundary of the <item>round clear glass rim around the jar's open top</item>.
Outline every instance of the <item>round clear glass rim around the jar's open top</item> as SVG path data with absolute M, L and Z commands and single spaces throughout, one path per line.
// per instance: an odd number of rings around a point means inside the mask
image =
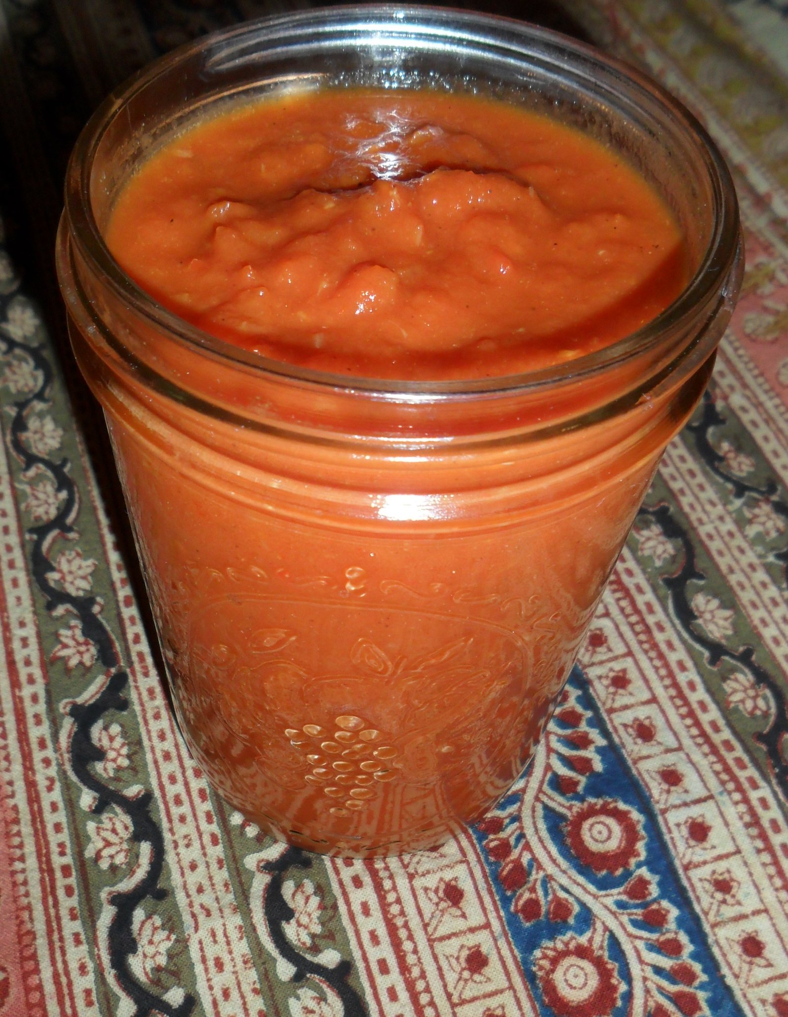
M 140 92 L 149 87 L 173 67 L 206 48 L 217 49 L 248 43 L 253 37 L 267 36 L 269 41 L 283 33 L 314 29 L 316 26 L 344 31 L 360 38 L 413 43 L 415 33 L 426 39 L 446 39 L 475 43 L 494 52 L 508 52 L 521 59 L 540 47 L 540 57 L 573 61 L 575 72 L 598 76 L 605 72 L 623 78 L 635 86 L 642 99 L 668 113 L 689 142 L 708 174 L 714 202 L 713 229 L 696 271 L 678 297 L 659 315 L 621 339 L 592 353 L 535 371 L 486 378 L 400 380 L 365 377 L 347 373 L 315 370 L 288 361 L 252 353 L 231 342 L 204 332 L 160 304 L 138 286 L 120 266 L 109 250 L 94 214 L 90 185 L 94 157 L 114 118 Z M 384 34 L 384 35 L 383 35 Z M 531 46 L 531 50 L 527 47 Z M 208 58 L 209 59 L 209 58 Z M 691 332 L 692 324 L 708 309 L 710 301 L 720 298 L 739 245 L 738 204 L 734 184 L 716 143 L 696 117 L 662 85 L 637 68 L 598 49 L 549 28 L 495 14 L 439 8 L 420 4 L 392 3 L 338 5 L 275 14 L 241 25 L 211 33 L 187 43 L 154 61 L 110 94 L 82 129 L 69 160 L 65 182 L 65 217 L 69 240 L 93 272 L 111 289 L 115 297 L 163 336 L 186 344 L 192 353 L 203 353 L 226 366 L 238 367 L 260 377 L 292 381 L 332 392 L 363 393 L 369 397 L 415 402 L 468 396 L 516 395 L 536 393 L 585 378 L 599 377 L 606 371 L 634 360 L 658 348 L 666 336 Z

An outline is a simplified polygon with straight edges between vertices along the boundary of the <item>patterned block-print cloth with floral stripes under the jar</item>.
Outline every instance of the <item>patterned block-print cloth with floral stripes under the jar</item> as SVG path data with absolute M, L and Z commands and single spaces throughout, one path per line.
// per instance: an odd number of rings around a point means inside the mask
M 528 776 L 441 850 L 369 862 L 266 840 L 188 758 L 52 266 L 90 108 L 282 6 L 0 0 L 0 1017 L 786 1017 L 786 5 L 551 13 L 708 124 L 744 291 Z

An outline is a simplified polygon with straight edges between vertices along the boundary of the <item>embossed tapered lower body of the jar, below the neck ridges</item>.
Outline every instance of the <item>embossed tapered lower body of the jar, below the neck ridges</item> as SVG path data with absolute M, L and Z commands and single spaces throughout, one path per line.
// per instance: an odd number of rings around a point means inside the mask
M 655 466 L 501 527 L 354 528 L 110 431 L 192 754 L 263 829 L 361 854 L 439 843 L 518 777 Z

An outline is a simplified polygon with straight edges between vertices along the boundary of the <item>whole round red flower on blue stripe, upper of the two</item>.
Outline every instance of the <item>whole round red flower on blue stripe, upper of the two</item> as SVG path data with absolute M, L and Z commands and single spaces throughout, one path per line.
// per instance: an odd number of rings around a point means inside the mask
M 595 873 L 617 876 L 643 857 L 641 820 L 613 798 L 588 798 L 563 825 L 572 853 Z

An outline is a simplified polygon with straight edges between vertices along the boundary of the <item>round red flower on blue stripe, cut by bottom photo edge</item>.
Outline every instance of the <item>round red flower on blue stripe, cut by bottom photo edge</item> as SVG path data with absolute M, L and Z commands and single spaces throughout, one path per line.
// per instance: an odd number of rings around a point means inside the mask
M 542 998 L 557 1017 L 608 1017 L 623 983 L 615 965 L 575 936 L 561 936 L 534 955 Z

